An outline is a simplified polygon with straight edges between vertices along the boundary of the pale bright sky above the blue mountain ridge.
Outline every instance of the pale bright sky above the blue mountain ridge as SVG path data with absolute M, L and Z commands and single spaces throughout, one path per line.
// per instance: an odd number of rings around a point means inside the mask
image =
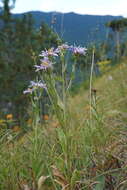
M 127 17 L 127 0 L 17 0 L 14 13 L 30 10 L 76 12 Z

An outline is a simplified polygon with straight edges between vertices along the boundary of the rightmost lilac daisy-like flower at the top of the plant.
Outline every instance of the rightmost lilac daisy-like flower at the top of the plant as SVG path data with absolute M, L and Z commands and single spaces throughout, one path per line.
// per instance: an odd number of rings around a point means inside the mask
M 74 55 L 85 55 L 87 49 L 80 46 L 70 46 L 69 50 L 72 51 Z

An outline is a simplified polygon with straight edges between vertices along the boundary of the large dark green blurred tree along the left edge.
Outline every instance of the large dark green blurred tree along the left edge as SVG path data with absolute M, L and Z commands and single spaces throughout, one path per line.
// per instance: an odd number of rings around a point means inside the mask
M 3 13 L 0 29 L 0 106 L 10 107 L 16 117 L 26 112 L 28 99 L 23 90 L 28 86 L 29 80 L 35 77 L 34 52 L 37 57 L 41 50 L 56 46 L 58 37 L 43 24 L 38 30 L 34 28 L 34 20 L 30 14 L 21 18 L 14 18 L 9 6 L 12 1 L 2 1 Z M 38 59 L 36 59 L 39 62 Z M 11 103 L 11 104 L 10 104 Z

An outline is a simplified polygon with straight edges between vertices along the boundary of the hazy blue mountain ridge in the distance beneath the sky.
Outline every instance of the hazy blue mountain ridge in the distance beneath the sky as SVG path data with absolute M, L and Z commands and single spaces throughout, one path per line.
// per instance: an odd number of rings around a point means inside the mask
M 22 14 L 14 14 L 21 17 L 24 14 L 31 14 L 35 20 L 35 28 L 39 28 L 45 22 L 65 41 L 71 44 L 86 45 L 106 40 L 110 29 L 105 24 L 111 20 L 123 18 L 112 15 L 88 15 L 74 12 L 41 12 L 29 11 Z

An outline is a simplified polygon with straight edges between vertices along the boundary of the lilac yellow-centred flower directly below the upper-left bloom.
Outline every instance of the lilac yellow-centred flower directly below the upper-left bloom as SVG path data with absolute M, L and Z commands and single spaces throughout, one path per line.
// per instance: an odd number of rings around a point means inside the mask
M 47 70 L 48 68 L 52 68 L 52 62 L 48 59 L 48 57 L 44 57 L 44 59 L 41 59 L 41 65 L 35 65 L 36 72 L 40 70 Z

